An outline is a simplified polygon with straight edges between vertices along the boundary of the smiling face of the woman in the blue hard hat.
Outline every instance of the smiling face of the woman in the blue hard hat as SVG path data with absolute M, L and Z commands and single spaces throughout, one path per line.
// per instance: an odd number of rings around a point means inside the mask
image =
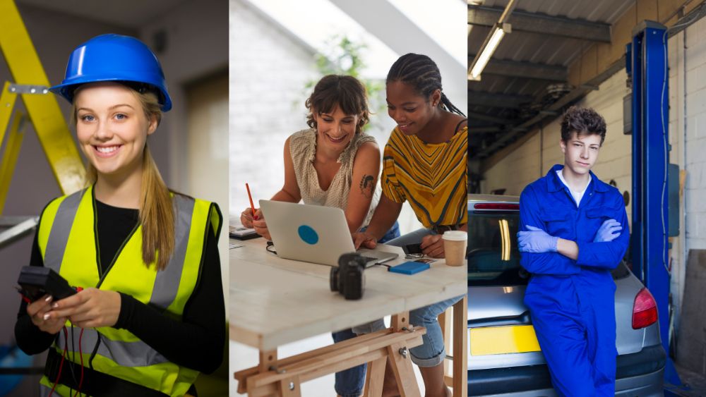
M 118 83 L 92 83 L 77 90 L 74 106 L 78 143 L 99 178 L 141 172 L 157 119 L 145 116 L 137 92 Z

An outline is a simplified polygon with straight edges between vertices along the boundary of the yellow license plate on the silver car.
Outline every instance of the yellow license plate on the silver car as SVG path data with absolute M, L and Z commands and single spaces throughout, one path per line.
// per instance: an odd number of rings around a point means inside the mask
M 531 325 L 487 326 L 468 330 L 471 355 L 540 351 Z

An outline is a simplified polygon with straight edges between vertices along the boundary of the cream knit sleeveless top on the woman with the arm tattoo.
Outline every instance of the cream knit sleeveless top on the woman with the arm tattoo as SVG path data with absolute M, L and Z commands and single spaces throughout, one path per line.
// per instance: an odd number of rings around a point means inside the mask
M 301 130 L 289 137 L 289 154 L 292 155 L 294 175 L 297 176 L 297 185 L 299 185 L 299 193 L 301 193 L 301 200 L 304 201 L 304 204 L 325 205 L 346 210 L 351 186 L 359 183 L 359 181 L 352 181 L 353 160 L 358 148 L 365 142 L 375 142 L 375 138 L 362 132 L 354 135 L 353 140 L 338 157 L 337 161 L 341 167 L 333 177 L 331 185 L 328 190 L 322 190 L 318 185 L 316 169 L 313 168 L 313 161 L 316 157 L 316 130 L 313 128 Z M 380 200 L 378 190 L 376 185 L 373 191 L 373 201 L 363 221 L 363 226 L 370 223 L 373 211 L 378 205 Z

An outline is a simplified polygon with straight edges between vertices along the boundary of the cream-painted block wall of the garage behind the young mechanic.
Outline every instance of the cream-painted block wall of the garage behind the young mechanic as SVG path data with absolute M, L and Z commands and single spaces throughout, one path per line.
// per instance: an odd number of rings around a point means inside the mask
M 686 35 L 686 48 L 684 37 Z M 686 184 L 681 200 L 680 236 L 672 239 L 671 292 L 678 303 L 675 323 L 683 298 L 688 250 L 706 249 L 706 19 L 671 37 L 669 49 L 669 162 L 686 169 Z M 614 179 L 618 189 L 628 190 L 632 198 L 632 146 L 630 135 L 623 135 L 623 97 L 628 94 L 625 69 L 590 92 L 578 106 L 592 107 L 606 118 L 608 133 L 594 173 L 603 181 Z M 686 87 L 686 92 L 685 92 Z M 522 188 L 546 174 L 553 164 L 563 163 L 560 119 L 549 123 L 524 145 L 486 171 L 481 191 L 507 188 L 519 194 Z M 541 138 L 540 138 L 541 137 Z M 540 150 L 540 140 L 543 141 Z M 540 158 L 542 171 L 539 171 Z M 632 205 L 627 208 L 628 216 Z

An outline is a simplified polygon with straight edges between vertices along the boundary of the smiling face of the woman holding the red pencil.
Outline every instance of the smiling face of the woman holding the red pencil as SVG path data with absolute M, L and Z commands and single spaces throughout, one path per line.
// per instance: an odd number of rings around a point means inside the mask
M 312 113 L 318 146 L 342 151 L 353 140 L 359 116 L 344 114 L 339 106 L 328 113 Z

